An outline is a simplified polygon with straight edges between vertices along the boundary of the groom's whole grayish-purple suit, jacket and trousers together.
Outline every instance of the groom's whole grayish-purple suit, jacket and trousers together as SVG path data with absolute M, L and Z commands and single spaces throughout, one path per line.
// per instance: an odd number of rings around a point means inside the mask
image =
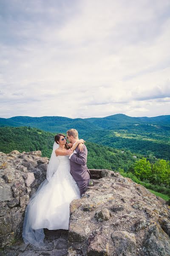
M 81 152 L 78 147 L 74 150 L 74 154 L 70 155 L 71 175 L 77 182 L 80 190 L 80 194 L 84 194 L 88 186 L 90 175 L 87 168 L 87 155 L 88 150 L 84 145 L 84 149 Z

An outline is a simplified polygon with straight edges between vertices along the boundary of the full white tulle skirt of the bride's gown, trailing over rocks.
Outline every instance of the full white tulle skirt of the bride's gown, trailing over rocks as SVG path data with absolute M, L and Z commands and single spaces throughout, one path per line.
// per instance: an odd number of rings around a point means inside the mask
M 70 203 L 80 198 L 77 183 L 70 174 L 70 166 L 59 166 L 50 181 L 45 180 L 30 198 L 23 224 L 23 240 L 42 247 L 43 228 L 68 230 Z

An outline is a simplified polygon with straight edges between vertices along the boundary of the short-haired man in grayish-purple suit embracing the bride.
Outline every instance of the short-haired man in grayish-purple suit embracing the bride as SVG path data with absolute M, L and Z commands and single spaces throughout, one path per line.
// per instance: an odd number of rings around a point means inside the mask
M 77 142 L 77 140 L 79 140 L 78 131 L 75 129 L 68 130 L 67 138 L 69 142 L 74 145 Z M 68 155 L 70 158 L 71 175 L 77 182 L 79 186 L 80 195 L 82 195 L 85 193 L 90 180 L 89 171 L 86 165 L 88 150 L 84 145 L 83 151 L 80 151 L 78 147 L 74 150 L 74 152 L 71 149 L 69 149 Z

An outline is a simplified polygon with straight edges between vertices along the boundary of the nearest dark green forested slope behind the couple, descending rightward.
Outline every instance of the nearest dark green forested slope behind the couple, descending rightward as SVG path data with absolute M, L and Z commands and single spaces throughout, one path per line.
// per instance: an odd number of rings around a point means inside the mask
M 50 157 L 54 136 L 50 132 L 29 127 L 1 127 L 0 151 L 9 153 L 12 150 L 36 151 L 41 150 L 42 156 Z M 136 161 L 130 151 L 120 150 L 87 142 L 89 169 L 129 169 Z

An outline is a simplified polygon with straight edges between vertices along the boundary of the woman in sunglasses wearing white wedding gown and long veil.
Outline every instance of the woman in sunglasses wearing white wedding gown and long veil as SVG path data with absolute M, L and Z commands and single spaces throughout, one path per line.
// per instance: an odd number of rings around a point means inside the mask
M 23 223 L 23 240 L 37 247 L 44 245 L 43 228 L 68 230 L 70 203 L 80 198 L 79 188 L 70 173 L 67 150 L 74 151 L 79 145 L 83 150 L 84 140 L 67 144 L 63 134 L 54 137 L 53 151 L 47 168 L 47 179 L 30 198 Z

